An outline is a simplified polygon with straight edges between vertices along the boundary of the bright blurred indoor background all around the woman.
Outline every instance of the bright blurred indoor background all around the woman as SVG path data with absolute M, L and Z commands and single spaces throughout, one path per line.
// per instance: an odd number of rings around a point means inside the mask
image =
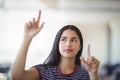
M 58 30 L 72 24 L 83 34 L 83 56 L 90 43 L 101 62 L 99 80 L 120 80 L 120 0 L 0 0 L 0 80 L 11 80 L 24 24 L 39 10 L 45 26 L 32 41 L 26 69 L 43 63 Z

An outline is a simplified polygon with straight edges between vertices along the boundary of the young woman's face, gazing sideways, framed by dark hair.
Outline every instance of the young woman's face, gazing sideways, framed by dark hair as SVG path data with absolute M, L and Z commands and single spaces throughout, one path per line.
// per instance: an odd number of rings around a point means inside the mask
M 61 57 L 75 58 L 80 47 L 80 40 L 75 31 L 70 29 L 63 31 L 59 41 Z

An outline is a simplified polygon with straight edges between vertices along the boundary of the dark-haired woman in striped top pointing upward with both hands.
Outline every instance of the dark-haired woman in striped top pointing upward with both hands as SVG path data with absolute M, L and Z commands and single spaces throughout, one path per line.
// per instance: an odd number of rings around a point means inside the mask
M 60 29 L 53 48 L 44 64 L 25 70 L 29 45 L 43 28 L 39 26 L 41 11 L 37 20 L 33 18 L 25 25 L 24 38 L 12 69 L 13 80 L 98 80 L 99 61 L 90 55 L 88 45 L 87 61 L 81 57 L 83 38 L 80 30 L 73 25 Z M 81 66 L 81 62 L 84 67 Z

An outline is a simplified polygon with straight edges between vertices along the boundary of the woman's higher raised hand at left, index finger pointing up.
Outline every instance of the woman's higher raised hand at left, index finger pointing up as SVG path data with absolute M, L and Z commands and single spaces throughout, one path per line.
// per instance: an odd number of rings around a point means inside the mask
M 44 26 L 44 23 L 39 25 L 40 17 L 41 17 L 41 11 L 39 10 L 37 19 L 35 20 L 35 18 L 33 18 L 32 21 L 29 21 L 28 23 L 25 24 L 25 29 L 24 29 L 25 37 L 33 38 L 37 33 L 41 31 L 41 29 Z

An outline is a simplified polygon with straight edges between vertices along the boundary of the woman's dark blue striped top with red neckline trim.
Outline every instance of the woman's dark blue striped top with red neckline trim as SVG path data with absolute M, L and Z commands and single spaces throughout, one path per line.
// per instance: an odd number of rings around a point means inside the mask
M 40 74 L 40 80 L 90 80 L 88 72 L 84 68 L 76 66 L 70 74 L 63 74 L 59 66 L 34 66 Z

